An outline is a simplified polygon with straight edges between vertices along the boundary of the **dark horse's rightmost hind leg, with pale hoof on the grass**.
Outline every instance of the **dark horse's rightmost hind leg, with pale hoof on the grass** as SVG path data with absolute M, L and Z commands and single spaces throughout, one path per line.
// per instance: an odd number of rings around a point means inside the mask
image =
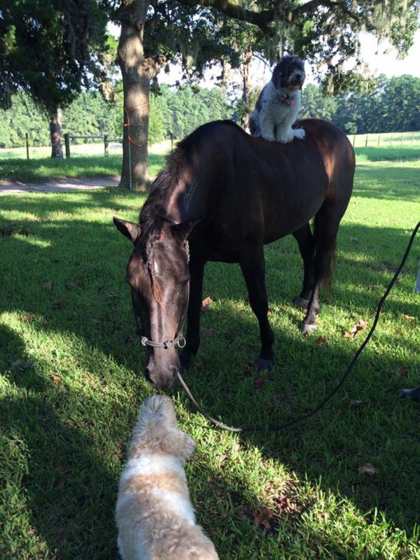
M 301 330 L 304 334 L 316 328 L 321 281 L 324 280 L 328 287 L 330 284 L 332 261 L 335 258 L 335 239 L 342 214 L 333 204 L 325 202 L 315 216 L 314 288 L 307 306 L 307 315 L 302 322 Z

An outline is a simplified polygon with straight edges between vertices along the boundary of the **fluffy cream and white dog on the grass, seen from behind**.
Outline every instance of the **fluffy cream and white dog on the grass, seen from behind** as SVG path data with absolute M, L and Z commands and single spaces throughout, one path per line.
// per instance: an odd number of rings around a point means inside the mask
M 116 521 L 123 560 L 218 560 L 190 503 L 184 464 L 195 441 L 181 432 L 169 397 L 142 405 L 121 475 Z

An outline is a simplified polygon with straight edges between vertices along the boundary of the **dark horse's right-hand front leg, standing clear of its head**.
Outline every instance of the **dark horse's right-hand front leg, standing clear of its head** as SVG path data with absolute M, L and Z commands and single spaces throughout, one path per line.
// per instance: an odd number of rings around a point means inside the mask
M 249 251 L 252 253 L 252 251 Z M 265 288 L 265 260 L 262 247 L 239 263 L 248 288 L 249 304 L 260 325 L 261 352 L 257 359 L 259 370 L 271 370 L 274 364 L 274 335 L 268 322 L 268 299 Z

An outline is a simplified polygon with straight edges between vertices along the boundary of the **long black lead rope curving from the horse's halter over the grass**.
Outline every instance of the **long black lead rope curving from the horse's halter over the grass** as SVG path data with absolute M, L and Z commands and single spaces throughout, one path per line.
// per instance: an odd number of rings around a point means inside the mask
M 414 237 L 416 237 L 416 233 L 419 231 L 419 228 L 420 228 L 420 222 L 414 228 L 414 230 L 412 232 L 412 235 L 409 238 L 409 242 L 408 242 L 407 248 L 405 249 L 405 253 L 402 257 L 400 265 L 399 265 L 398 269 L 396 270 L 395 274 L 393 275 L 393 279 L 388 284 L 388 288 L 386 288 L 384 295 L 381 297 L 381 300 L 379 301 L 377 311 L 376 311 L 376 315 L 374 316 L 374 321 L 373 321 L 373 324 L 372 324 L 372 328 L 370 328 L 370 331 L 367 333 L 367 336 L 366 336 L 365 340 L 363 341 L 363 343 L 360 344 L 360 347 L 358 348 L 358 350 L 354 354 L 353 359 L 351 360 L 351 362 L 349 364 L 349 367 L 347 367 L 346 372 L 344 373 L 343 377 L 339 380 L 338 384 L 335 386 L 335 388 L 332 389 L 332 391 L 325 398 L 323 398 L 323 400 L 321 400 L 321 402 L 318 403 L 318 405 L 313 410 L 307 412 L 306 414 L 302 414 L 301 416 L 296 416 L 295 418 L 292 418 L 292 419 L 290 419 L 290 420 L 288 420 L 288 421 L 286 421 L 282 424 L 269 424 L 268 426 L 241 426 L 240 428 L 232 428 L 232 426 L 227 426 L 226 424 L 224 424 L 224 423 L 216 420 L 215 418 L 213 418 L 213 416 L 210 416 L 210 414 L 208 414 L 198 404 L 197 400 L 195 400 L 195 398 L 191 394 L 190 389 L 186 385 L 186 382 L 183 380 L 183 378 L 181 377 L 181 374 L 179 373 L 178 374 L 178 379 L 179 379 L 181 385 L 183 386 L 183 390 L 187 393 L 191 402 L 193 402 L 193 405 L 195 405 L 195 407 L 197 407 L 197 410 L 199 412 L 201 412 L 201 414 L 204 416 L 204 418 L 207 418 L 207 420 L 209 420 L 211 423 L 213 423 L 214 426 L 218 426 L 219 428 L 222 428 L 223 430 L 228 430 L 229 432 L 248 432 L 248 431 L 260 431 L 260 430 L 277 431 L 277 430 L 282 430 L 283 428 L 290 428 L 290 426 L 294 426 L 295 424 L 300 423 L 300 422 L 310 418 L 311 416 L 314 416 L 314 414 L 316 414 L 316 412 L 321 410 L 321 408 L 323 408 L 323 406 L 328 402 L 328 400 L 330 400 L 330 398 L 332 398 L 332 396 L 335 395 L 335 393 L 337 393 L 337 391 L 339 391 L 339 388 L 342 387 L 342 385 L 344 384 L 344 381 L 346 381 L 347 377 L 349 377 L 349 374 L 350 374 L 351 370 L 353 369 L 354 364 L 358 360 L 358 357 L 363 352 L 363 349 L 365 349 L 365 346 L 367 345 L 367 342 L 370 341 L 370 339 L 373 335 L 373 332 L 374 332 L 374 330 L 377 326 L 377 323 L 379 321 L 379 314 L 381 313 L 382 305 L 384 304 L 384 302 L 386 300 L 386 297 L 388 297 L 388 294 L 390 293 L 391 288 L 393 287 L 395 281 L 397 280 L 398 276 L 400 275 L 402 267 L 405 265 L 405 261 L 407 260 L 409 251 L 411 250 L 412 244 L 414 243 Z

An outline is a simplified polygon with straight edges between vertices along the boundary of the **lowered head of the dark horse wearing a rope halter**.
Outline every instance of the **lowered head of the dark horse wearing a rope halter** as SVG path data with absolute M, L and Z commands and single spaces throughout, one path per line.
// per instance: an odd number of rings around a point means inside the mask
M 160 227 L 142 232 L 137 223 L 113 218 L 116 228 L 134 243 L 127 265 L 132 304 L 140 318 L 146 346 L 146 377 L 155 388 L 168 388 L 179 372 L 176 346 L 185 341 L 181 329 L 188 307 L 189 224 L 160 219 Z M 138 321 L 136 319 L 136 321 Z

